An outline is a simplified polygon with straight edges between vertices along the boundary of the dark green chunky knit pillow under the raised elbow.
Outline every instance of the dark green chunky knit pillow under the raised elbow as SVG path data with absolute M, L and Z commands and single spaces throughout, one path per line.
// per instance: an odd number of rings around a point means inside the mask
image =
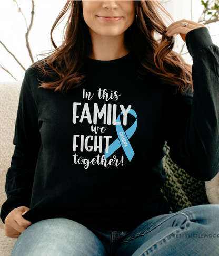
M 170 147 L 167 144 L 164 149 L 166 154 L 163 158 L 163 168 L 167 178 L 161 191 L 169 202 L 171 211 L 177 212 L 190 206 L 209 204 L 205 182 L 191 177 L 185 170 L 173 163 L 169 156 Z

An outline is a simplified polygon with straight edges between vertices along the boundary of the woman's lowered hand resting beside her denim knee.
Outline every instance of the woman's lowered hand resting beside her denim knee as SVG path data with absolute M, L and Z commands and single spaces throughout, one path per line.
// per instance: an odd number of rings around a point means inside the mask
M 22 217 L 24 213 L 29 211 L 26 206 L 20 206 L 12 210 L 5 218 L 5 235 L 9 238 L 18 238 L 19 235 L 32 223 Z

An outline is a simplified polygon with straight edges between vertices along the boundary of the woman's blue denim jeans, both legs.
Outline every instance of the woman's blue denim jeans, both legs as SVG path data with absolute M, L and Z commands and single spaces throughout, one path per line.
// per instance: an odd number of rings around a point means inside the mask
M 132 231 L 104 230 L 65 218 L 29 226 L 12 256 L 219 255 L 219 205 L 198 205 L 144 221 Z

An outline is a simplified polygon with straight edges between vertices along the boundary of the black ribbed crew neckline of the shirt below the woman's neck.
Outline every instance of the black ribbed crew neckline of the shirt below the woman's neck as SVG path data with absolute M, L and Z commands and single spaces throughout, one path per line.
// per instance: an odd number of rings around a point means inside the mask
M 125 63 L 127 60 L 130 60 L 131 57 L 132 57 L 132 51 L 130 51 L 125 56 L 115 60 L 103 61 L 103 60 L 94 60 L 91 58 L 87 58 L 87 64 L 96 68 L 110 68 L 110 67 L 115 67 L 119 64 Z

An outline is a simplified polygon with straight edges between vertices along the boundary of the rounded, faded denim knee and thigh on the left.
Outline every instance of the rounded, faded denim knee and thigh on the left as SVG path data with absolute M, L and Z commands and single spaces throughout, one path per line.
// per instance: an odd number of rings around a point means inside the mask
M 38 221 L 22 232 L 12 256 L 106 256 L 106 250 L 87 227 L 65 218 Z

